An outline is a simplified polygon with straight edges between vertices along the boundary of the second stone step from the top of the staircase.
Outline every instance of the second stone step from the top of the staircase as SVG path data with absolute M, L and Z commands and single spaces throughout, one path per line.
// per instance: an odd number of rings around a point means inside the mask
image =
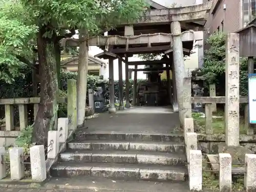
M 111 141 L 111 140 L 86 140 L 72 141 L 68 143 L 68 148 L 72 150 L 136 150 L 155 152 L 185 152 L 183 142 L 135 142 L 135 141 Z

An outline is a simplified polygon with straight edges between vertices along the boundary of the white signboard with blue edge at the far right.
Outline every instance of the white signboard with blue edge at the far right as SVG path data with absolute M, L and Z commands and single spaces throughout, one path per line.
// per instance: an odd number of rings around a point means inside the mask
M 256 124 L 256 74 L 248 74 L 249 122 Z

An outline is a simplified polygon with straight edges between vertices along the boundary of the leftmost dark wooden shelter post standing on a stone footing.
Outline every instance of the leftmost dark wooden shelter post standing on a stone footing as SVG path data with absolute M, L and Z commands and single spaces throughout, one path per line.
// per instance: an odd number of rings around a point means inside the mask
M 109 113 L 116 113 L 115 108 L 115 82 L 114 82 L 114 59 L 109 59 L 109 85 L 110 85 L 110 107 Z

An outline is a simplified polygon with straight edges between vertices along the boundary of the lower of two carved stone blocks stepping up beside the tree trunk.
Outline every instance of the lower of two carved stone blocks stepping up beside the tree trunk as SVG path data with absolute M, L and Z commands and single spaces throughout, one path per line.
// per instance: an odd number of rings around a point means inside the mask
M 49 131 L 48 132 L 48 159 L 55 159 L 59 152 L 59 132 Z

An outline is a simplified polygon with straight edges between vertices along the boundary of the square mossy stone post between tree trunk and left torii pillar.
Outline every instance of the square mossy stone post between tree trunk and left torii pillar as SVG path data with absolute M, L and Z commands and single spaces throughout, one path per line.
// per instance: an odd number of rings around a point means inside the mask
M 77 97 L 76 80 L 68 79 L 68 118 L 69 130 L 76 130 L 77 127 Z

